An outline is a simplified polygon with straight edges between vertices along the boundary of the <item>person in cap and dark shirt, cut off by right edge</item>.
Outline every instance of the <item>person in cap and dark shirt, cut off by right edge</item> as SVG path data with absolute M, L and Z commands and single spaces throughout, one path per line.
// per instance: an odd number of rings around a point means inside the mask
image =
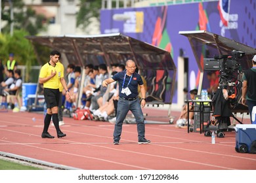
M 250 118 L 253 107 L 256 106 L 256 55 L 253 56 L 252 62 L 253 67 L 244 72 L 242 86 L 242 104 L 247 103 Z

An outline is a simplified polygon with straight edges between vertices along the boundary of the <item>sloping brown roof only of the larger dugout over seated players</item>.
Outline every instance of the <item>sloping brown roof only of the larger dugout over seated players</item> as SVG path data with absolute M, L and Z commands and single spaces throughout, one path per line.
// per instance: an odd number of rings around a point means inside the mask
M 56 49 L 65 54 L 69 63 L 125 63 L 134 59 L 139 69 L 176 69 L 166 50 L 133 39 L 121 33 L 105 35 L 63 35 L 57 37 L 28 36 L 32 43 Z

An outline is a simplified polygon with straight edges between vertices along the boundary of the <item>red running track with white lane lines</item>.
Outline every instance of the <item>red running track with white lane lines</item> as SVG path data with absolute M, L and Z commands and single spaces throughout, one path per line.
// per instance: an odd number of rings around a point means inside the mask
M 42 139 L 43 114 L 1 112 L 0 151 L 89 170 L 256 169 L 255 154 L 235 151 L 234 131 L 211 144 L 211 137 L 168 124 L 163 118 L 167 110 L 144 108 L 144 112 L 149 114 L 148 119 L 151 115 L 153 120 L 167 123 L 146 124 L 150 144 L 138 144 L 136 125 L 124 124 L 119 145 L 113 144 L 114 125 L 108 122 L 64 118 L 61 129 L 67 137 Z M 56 137 L 53 126 L 49 132 Z

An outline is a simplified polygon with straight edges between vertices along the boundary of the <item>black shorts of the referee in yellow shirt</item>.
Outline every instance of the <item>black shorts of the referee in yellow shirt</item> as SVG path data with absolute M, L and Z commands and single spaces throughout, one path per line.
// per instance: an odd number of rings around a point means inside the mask
M 58 107 L 58 102 L 60 101 L 60 90 L 44 88 L 43 95 L 45 96 L 47 108 Z

